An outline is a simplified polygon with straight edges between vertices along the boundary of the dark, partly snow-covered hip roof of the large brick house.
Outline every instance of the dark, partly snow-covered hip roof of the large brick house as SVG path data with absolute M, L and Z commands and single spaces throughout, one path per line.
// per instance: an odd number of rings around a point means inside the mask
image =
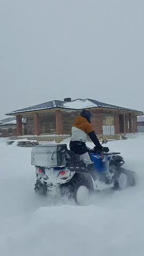
M 103 102 L 99 102 L 97 100 L 91 99 L 76 99 L 70 102 L 61 101 L 61 100 L 53 100 L 50 102 L 45 102 L 42 104 L 34 105 L 28 108 L 22 108 L 19 110 L 15 110 L 12 112 L 7 113 L 6 115 L 15 115 L 15 114 L 22 114 L 26 112 L 38 111 L 38 110 L 47 110 L 47 109 L 69 109 L 69 110 L 81 110 L 86 108 L 108 108 L 108 109 L 115 109 L 115 110 L 125 110 L 125 111 L 133 111 L 133 112 L 140 112 L 138 110 L 130 109 L 130 108 L 123 108 L 120 106 L 115 106 L 111 104 L 106 104 Z

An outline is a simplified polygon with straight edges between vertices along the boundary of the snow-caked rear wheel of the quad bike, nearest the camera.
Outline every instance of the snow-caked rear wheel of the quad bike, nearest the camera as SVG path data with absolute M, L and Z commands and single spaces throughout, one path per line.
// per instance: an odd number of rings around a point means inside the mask
M 63 188 L 65 189 L 64 194 L 67 194 L 69 199 L 74 199 L 78 205 L 84 205 L 86 203 L 92 190 L 90 184 L 84 178 L 74 178 L 64 184 Z

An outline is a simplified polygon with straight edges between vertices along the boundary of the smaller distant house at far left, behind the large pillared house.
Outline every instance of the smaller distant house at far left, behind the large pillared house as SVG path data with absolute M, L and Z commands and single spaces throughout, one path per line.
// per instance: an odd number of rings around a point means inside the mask
M 26 134 L 26 119 L 22 118 L 22 134 Z M 16 136 L 16 117 L 5 118 L 0 121 L 0 138 Z

